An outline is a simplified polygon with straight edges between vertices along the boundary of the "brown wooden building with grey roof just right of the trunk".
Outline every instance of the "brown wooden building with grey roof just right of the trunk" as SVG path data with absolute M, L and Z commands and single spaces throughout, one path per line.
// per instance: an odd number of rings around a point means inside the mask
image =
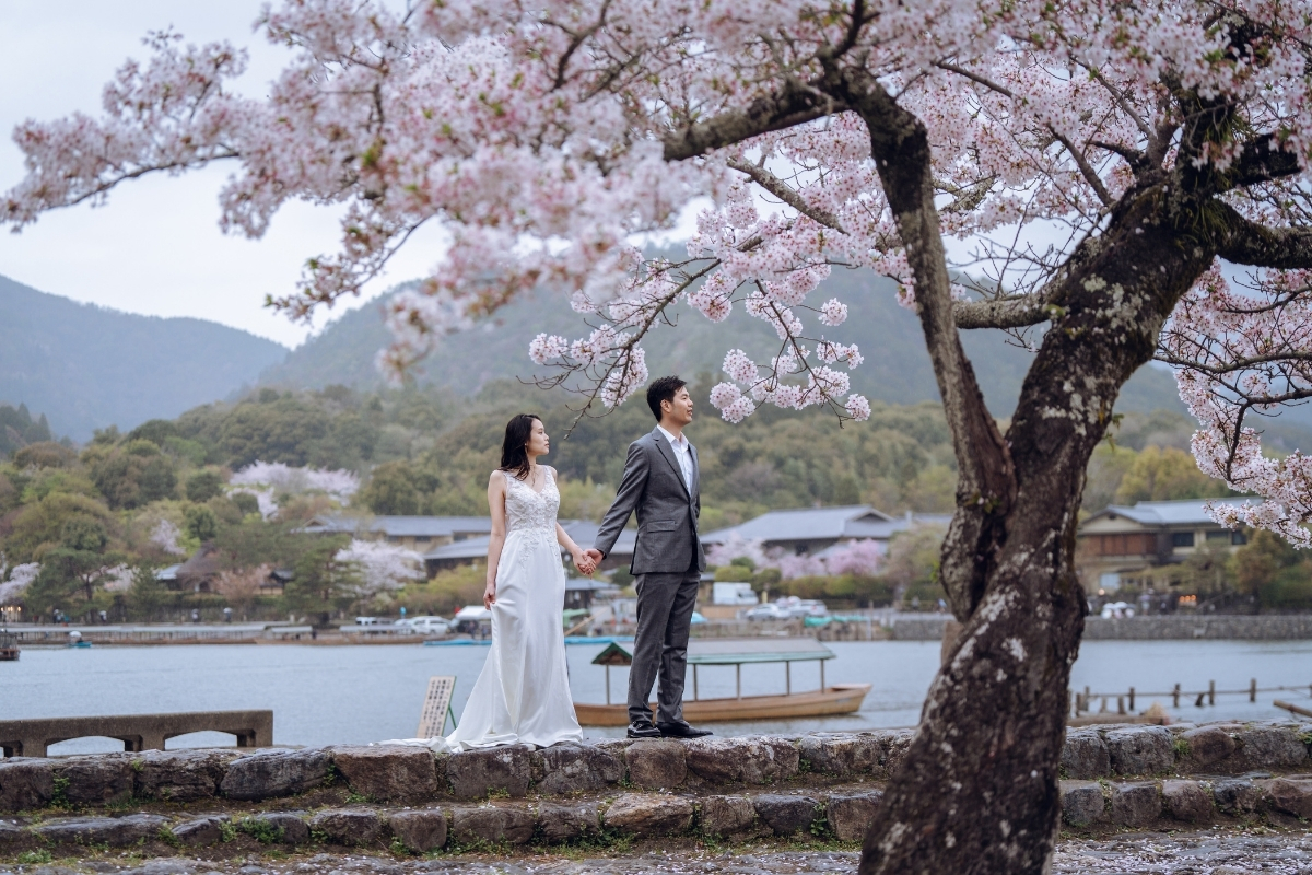
M 1204 504 L 1191 500 L 1110 505 L 1085 519 L 1076 535 L 1076 571 L 1085 592 L 1111 593 L 1122 585 L 1166 589 L 1178 580 L 1179 564 L 1199 550 L 1233 551 L 1248 543 L 1244 531 L 1216 525 Z

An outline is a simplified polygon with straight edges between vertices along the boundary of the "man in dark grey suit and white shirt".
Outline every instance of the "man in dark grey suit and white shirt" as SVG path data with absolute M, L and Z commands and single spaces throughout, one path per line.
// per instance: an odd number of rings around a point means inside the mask
M 628 445 L 625 476 L 615 502 L 601 521 L 588 555 L 606 558 L 638 512 L 638 546 L 631 571 L 638 579 L 638 632 L 628 672 L 630 739 L 697 739 L 711 735 L 684 720 L 684 674 L 687 630 L 697 603 L 697 584 L 706 569 L 697 517 L 702 500 L 697 483 L 697 450 L 684 437 L 693 421 L 693 399 L 684 380 L 661 376 L 647 388 L 656 428 Z M 656 724 L 648 701 L 660 674 Z

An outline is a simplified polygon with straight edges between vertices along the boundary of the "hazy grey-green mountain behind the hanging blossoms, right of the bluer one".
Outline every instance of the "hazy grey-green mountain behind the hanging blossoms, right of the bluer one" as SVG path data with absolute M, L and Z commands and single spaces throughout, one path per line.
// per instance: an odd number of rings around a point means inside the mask
M 867 272 L 836 270 L 812 293 L 817 303 L 830 295 L 848 304 L 849 315 L 838 328 L 825 329 L 827 336 L 844 344 L 859 344 L 866 359 L 851 371 L 854 391 L 893 404 L 938 399 L 920 321 L 912 311 L 897 304 L 892 281 Z M 361 390 L 378 387 L 382 376 L 374 369 L 374 354 L 391 340 L 382 312 L 382 304 L 370 303 L 345 314 L 293 350 L 286 361 L 261 374 L 260 382 L 303 388 L 333 383 Z M 719 371 L 724 353 L 735 346 L 757 361 L 778 352 L 774 332 L 741 307 L 719 325 L 686 306 L 673 308 L 672 316 L 676 328 L 657 325 L 644 342 L 647 366 L 653 375 Z M 808 329 L 820 328 L 813 317 L 804 321 Z M 520 300 L 471 331 L 445 338 L 424 361 L 417 378 L 466 394 L 493 379 L 529 379 L 535 369 L 527 348 L 537 333 L 577 337 L 585 331 L 579 314 L 560 296 Z M 1010 416 L 1033 353 L 998 331 L 964 332 L 962 344 L 989 409 L 997 416 Z M 544 374 L 544 370 L 537 369 L 537 373 Z M 1126 384 L 1118 409 L 1183 412 L 1185 408 L 1170 373 L 1145 366 Z

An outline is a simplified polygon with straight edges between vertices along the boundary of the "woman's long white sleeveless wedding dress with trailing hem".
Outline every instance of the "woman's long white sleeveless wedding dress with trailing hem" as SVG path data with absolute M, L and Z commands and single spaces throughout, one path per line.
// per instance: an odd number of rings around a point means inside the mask
M 562 628 L 565 569 L 556 543 L 559 506 L 560 492 L 550 474 L 542 492 L 505 474 L 506 534 L 496 569 L 487 662 L 455 732 L 445 739 L 401 744 L 457 752 L 502 744 L 547 748 L 583 740 L 565 670 Z

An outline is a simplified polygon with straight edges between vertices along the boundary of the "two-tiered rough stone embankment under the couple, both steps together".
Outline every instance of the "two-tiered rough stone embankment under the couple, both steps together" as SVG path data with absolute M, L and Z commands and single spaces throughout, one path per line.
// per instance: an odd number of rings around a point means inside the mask
M 854 842 L 909 731 L 496 748 L 180 750 L 0 760 L 0 859 L 80 849 L 215 858 L 649 840 Z M 1068 828 L 1312 817 L 1312 723 L 1072 729 Z

